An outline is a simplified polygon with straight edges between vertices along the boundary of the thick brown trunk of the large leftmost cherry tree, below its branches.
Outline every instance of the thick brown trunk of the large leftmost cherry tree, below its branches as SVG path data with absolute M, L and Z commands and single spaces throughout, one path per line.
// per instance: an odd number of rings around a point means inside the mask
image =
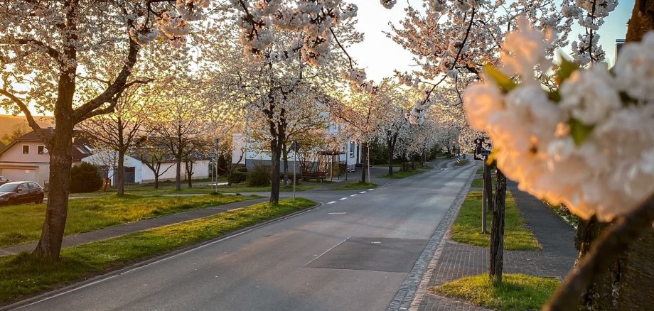
M 45 209 L 45 221 L 33 253 L 41 258 L 58 260 L 61 251 L 66 216 L 68 214 L 68 193 L 70 192 L 70 167 L 73 165 L 71 148 L 73 148 L 73 121 L 70 116 L 57 118 L 50 155 L 50 180 L 48 189 L 48 206 Z

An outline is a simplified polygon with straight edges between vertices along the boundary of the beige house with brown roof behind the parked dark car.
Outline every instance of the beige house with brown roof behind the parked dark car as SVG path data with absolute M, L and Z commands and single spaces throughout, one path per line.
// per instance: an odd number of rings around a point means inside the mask
M 53 134 L 53 129 L 41 129 L 45 136 Z M 71 156 L 73 165 L 91 155 L 91 150 L 84 138 L 77 133 L 73 141 Z M 47 185 L 50 178 L 50 155 L 45 143 L 36 131 L 31 131 L 16 138 L 8 146 L 0 149 L 0 175 L 10 180 L 27 180 Z

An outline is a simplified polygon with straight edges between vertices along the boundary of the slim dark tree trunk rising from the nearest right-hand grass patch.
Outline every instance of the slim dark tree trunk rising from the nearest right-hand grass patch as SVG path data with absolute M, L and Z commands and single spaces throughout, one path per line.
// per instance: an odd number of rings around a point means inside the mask
M 506 177 L 499 168 L 495 172 L 497 185 L 495 186 L 495 204 L 493 204 L 493 218 L 491 219 L 491 269 L 488 271 L 488 275 L 491 280 L 502 282 Z

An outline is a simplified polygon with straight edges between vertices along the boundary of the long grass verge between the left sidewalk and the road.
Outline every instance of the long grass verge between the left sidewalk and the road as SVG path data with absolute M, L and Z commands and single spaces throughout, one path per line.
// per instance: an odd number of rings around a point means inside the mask
M 216 239 L 314 204 L 302 198 L 280 200 L 274 206 L 254 204 L 211 217 L 63 249 L 60 261 L 54 263 L 39 261 L 29 253 L 1 257 L 0 305 L 129 266 L 174 249 Z

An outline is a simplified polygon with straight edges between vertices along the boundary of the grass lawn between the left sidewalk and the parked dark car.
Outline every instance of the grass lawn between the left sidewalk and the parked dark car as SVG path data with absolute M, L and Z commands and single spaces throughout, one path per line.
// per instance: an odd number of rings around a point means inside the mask
M 68 202 L 65 234 L 160 217 L 166 214 L 254 199 L 256 196 L 201 195 L 193 197 L 141 197 L 109 195 Z M 0 247 L 37 241 L 45 219 L 45 204 L 0 208 Z

